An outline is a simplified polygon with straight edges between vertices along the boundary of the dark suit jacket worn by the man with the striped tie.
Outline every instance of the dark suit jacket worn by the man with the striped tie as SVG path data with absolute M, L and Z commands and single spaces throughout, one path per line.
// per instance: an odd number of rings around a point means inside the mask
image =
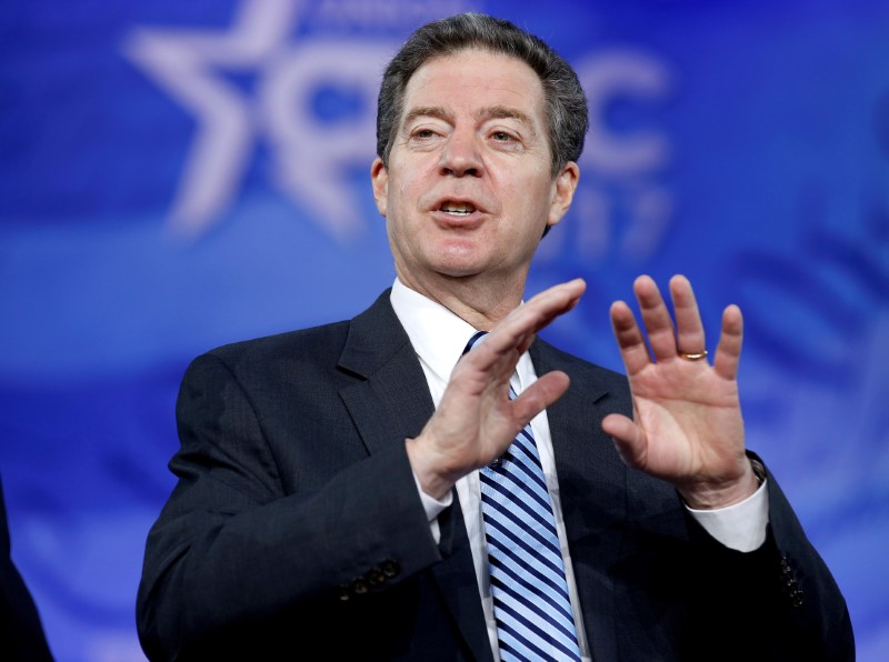
M 571 377 L 548 410 L 596 660 L 851 660 L 843 599 L 769 479 L 770 533 L 721 546 L 600 430 L 626 379 L 538 340 Z M 429 530 L 404 451 L 433 404 L 388 291 L 351 321 L 197 359 L 179 477 L 138 599 L 152 659 L 491 659 L 460 508 Z

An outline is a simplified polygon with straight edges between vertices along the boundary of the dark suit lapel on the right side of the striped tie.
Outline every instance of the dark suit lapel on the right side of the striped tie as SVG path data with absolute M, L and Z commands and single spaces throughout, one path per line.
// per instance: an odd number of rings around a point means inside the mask
M 616 398 L 622 401 L 626 395 L 612 392 L 597 379 L 596 372 L 601 369 L 541 340 L 535 342 L 530 353 L 538 375 L 562 370 L 571 378 L 568 392 L 547 409 L 547 419 L 587 642 L 593 660 L 616 660 L 610 569 L 620 555 L 620 535 L 615 533 L 627 516 L 627 473 L 613 442 L 601 431 L 601 419 L 616 411 L 610 404 Z M 609 401 L 608 411 L 605 401 Z

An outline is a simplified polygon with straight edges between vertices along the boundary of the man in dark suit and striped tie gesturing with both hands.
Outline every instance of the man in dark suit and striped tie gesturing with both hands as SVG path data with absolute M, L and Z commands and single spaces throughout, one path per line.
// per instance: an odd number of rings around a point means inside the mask
M 506 21 L 399 51 L 371 167 L 398 280 L 351 321 L 189 368 L 139 592 L 150 658 L 852 659 L 839 590 L 745 453 L 740 311 L 711 367 L 688 281 L 673 331 L 640 278 L 652 357 L 611 310 L 629 389 L 535 340 L 583 293 L 520 305 L 586 118 L 570 67 Z M 498 519 L 526 510 L 539 526 Z

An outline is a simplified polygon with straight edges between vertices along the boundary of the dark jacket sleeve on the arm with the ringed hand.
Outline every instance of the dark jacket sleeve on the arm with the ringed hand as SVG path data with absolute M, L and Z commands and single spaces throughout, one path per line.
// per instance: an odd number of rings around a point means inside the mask
M 839 586 L 775 477 L 768 481 L 769 525 L 760 549 L 729 550 L 689 523 L 697 550 L 691 615 L 701 632 L 695 648 L 725 651 L 727 660 L 852 662 L 855 639 Z

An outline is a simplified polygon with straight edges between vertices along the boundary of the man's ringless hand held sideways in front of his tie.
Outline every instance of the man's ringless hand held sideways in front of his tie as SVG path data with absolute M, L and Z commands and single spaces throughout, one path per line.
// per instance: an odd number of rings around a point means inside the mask
M 535 334 L 573 309 L 586 289 L 576 279 L 541 292 L 457 363 L 438 410 L 407 441 L 423 492 L 443 498 L 460 478 L 503 454 L 519 431 L 568 390 L 568 375 L 553 371 L 510 400 L 509 380 Z

